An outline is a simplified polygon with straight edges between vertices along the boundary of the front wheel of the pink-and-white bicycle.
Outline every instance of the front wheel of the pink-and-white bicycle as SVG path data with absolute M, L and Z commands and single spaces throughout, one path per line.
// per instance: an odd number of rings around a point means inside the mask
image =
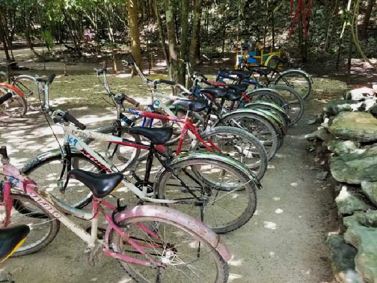
M 12 256 L 26 255 L 40 250 L 47 246 L 56 236 L 60 228 L 60 222 L 57 221 L 52 214 L 44 210 L 38 203 L 30 199 L 26 195 L 11 194 L 14 200 L 11 211 L 11 225 L 30 226 L 30 233 L 26 237 L 25 242 Z M 23 205 L 32 208 L 32 213 L 23 211 Z M 21 205 L 21 207 L 20 207 Z M 3 223 L 5 219 L 5 207 L 0 207 L 0 221 Z M 2 225 L 2 227 L 4 227 Z M 4 227 L 4 228 L 7 228 Z

